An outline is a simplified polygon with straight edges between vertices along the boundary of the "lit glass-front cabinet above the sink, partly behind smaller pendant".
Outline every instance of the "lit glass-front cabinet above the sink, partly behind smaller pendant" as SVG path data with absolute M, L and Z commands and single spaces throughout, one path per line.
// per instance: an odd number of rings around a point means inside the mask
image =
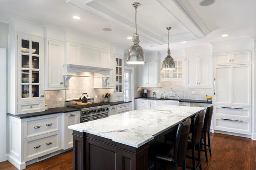
M 175 60 L 175 59 L 174 59 Z M 177 59 L 175 62 L 174 70 L 162 70 L 163 62 L 162 60 L 159 61 L 159 68 L 160 68 L 160 81 L 183 81 L 184 80 L 184 59 Z

